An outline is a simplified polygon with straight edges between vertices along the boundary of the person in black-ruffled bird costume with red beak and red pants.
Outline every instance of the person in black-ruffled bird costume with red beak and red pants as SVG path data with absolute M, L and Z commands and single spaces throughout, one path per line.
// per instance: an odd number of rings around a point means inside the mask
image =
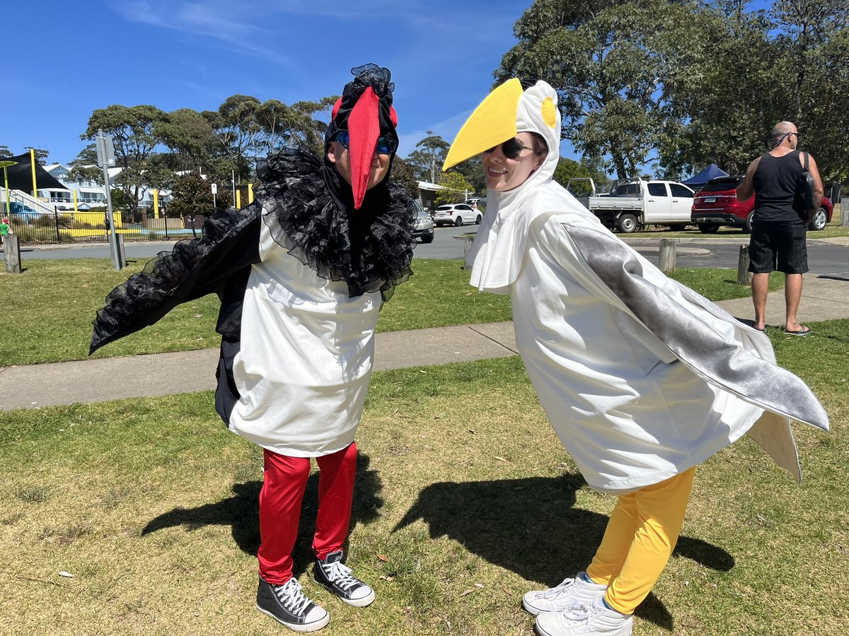
M 256 606 L 295 631 L 329 614 L 292 576 L 301 501 L 318 462 L 314 577 L 348 605 L 374 590 L 345 565 L 363 413 L 381 305 L 412 274 L 415 209 L 389 181 L 398 146 L 390 72 L 352 69 L 323 161 L 301 148 L 268 157 L 257 200 L 219 212 L 106 298 L 91 351 L 217 293 L 216 410 L 264 449 Z

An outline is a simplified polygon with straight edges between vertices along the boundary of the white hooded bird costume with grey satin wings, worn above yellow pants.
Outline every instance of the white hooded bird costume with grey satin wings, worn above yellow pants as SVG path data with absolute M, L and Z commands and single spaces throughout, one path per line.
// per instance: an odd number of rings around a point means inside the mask
M 827 429 L 822 406 L 763 333 L 664 276 L 551 181 L 556 98 L 539 81 L 518 99 L 515 131 L 542 135 L 548 157 L 520 187 L 487 192 L 468 259 L 472 285 L 510 294 L 522 360 L 583 477 L 629 492 L 750 432 L 801 478 L 787 416 Z

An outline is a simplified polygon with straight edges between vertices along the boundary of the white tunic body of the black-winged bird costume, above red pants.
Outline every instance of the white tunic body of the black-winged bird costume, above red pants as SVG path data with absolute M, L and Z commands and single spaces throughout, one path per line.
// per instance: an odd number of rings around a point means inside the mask
M 265 224 L 261 262 L 245 288 L 239 401 L 229 427 L 292 457 L 329 455 L 354 441 L 374 358 L 380 293 L 350 298 L 274 242 Z

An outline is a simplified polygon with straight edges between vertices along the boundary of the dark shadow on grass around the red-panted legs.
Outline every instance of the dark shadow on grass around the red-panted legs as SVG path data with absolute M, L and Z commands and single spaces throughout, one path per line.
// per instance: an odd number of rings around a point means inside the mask
M 357 455 L 357 482 L 354 485 L 354 502 L 351 508 L 351 526 L 357 522 L 373 522 L 383 505 L 380 490 L 383 488 L 378 471 L 370 470 L 371 459 L 362 452 Z M 298 538 L 292 556 L 295 560 L 293 574 L 301 576 L 312 563 L 312 535 L 318 511 L 318 472 L 313 472 L 306 483 Z M 197 508 L 175 508 L 150 520 L 142 536 L 166 527 L 183 526 L 188 532 L 204 526 L 230 526 L 233 539 L 245 553 L 256 555 L 260 545 L 259 494 L 261 481 L 234 483 L 233 496 L 214 504 Z

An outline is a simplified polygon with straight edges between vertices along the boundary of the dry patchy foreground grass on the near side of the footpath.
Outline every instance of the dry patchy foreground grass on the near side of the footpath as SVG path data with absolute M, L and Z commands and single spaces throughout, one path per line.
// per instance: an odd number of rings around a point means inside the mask
M 844 634 L 849 321 L 773 334 L 829 434 L 796 427 L 797 485 L 747 439 L 696 473 L 635 633 Z M 211 393 L 0 414 L 0 633 L 283 633 L 254 609 L 261 451 Z M 529 589 L 585 567 L 614 499 L 591 491 L 518 358 L 376 373 L 357 434 L 349 565 L 367 609 L 312 582 L 318 475 L 295 574 L 332 634 L 530 634 Z

